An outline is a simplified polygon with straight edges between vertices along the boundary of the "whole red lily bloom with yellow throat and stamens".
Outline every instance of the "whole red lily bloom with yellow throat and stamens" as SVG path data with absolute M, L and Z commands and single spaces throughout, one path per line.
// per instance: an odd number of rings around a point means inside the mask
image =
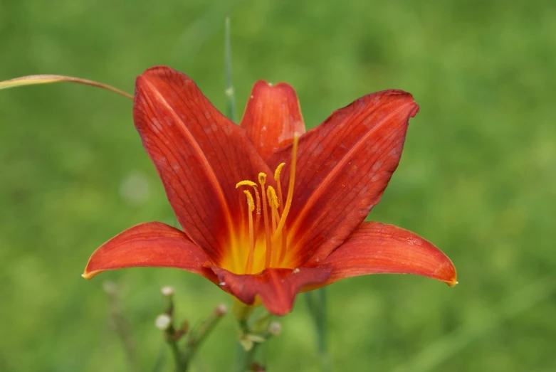
M 260 299 L 276 315 L 290 312 L 298 292 L 355 275 L 416 274 L 455 285 L 455 267 L 434 245 L 364 222 L 418 110 L 409 93 L 385 90 L 304 133 L 293 88 L 258 81 L 237 126 L 186 75 L 150 68 L 137 78 L 135 127 L 183 232 L 136 225 L 98 248 L 83 277 L 176 267 L 244 304 Z

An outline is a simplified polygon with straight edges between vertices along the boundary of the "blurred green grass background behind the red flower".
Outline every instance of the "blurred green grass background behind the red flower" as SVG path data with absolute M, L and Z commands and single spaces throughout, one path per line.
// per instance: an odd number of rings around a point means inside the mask
M 0 80 L 60 73 L 132 91 L 142 70 L 166 64 L 224 110 L 226 15 L 238 112 L 259 78 L 292 84 L 308 127 L 386 88 L 421 105 L 370 217 L 442 248 L 460 285 L 377 275 L 330 287 L 335 370 L 553 371 L 554 2 L 4 1 Z M 0 92 L 0 118 L 0 371 L 125 371 L 109 279 L 123 288 L 150 371 L 159 287 L 174 285 L 192 320 L 229 298 L 177 270 L 80 278 L 112 235 L 173 220 L 130 102 L 75 85 L 24 87 Z M 263 350 L 271 371 L 319 371 L 303 301 L 283 326 Z M 226 371 L 234 335 L 226 319 L 196 371 Z

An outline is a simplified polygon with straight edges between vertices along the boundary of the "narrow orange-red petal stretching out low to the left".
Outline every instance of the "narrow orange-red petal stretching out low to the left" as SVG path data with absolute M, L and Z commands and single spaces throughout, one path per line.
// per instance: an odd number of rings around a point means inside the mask
M 204 250 L 177 228 L 159 222 L 141 223 L 95 250 L 83 277 L 90 279 L 106 270 L 127 267 L 175 267 L 216 281 L 211 270 L 203 267 L 208 260 Z

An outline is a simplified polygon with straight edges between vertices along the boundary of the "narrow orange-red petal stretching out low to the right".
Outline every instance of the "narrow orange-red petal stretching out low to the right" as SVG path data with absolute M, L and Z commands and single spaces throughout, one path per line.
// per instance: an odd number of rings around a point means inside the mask
M 439 248 L 394 225 L 364 222 L 322 265 L 332 274 L 325 284 L 367 274 L 414 274 L 453 286 L 456 267 Z

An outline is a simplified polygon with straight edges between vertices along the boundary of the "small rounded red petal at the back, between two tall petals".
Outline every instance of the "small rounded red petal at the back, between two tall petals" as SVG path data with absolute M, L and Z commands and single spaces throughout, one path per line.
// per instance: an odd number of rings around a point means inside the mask
M 253 85 L 241 127 L 263 159 L 293 141 L 293 134 L 305 133 L 298 96 L 288 84 L 271 85 L 259 80 Z

